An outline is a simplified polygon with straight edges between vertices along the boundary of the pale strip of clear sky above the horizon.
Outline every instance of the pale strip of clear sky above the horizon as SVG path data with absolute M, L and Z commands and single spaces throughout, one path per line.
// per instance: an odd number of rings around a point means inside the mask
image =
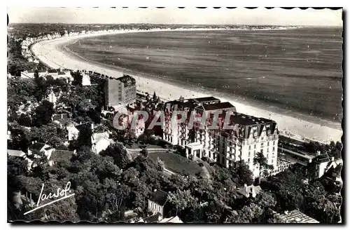
M 13 23 L 210 24 L 342 26 L 342 10 L 274 8 L 30 8 L 9 7 Z

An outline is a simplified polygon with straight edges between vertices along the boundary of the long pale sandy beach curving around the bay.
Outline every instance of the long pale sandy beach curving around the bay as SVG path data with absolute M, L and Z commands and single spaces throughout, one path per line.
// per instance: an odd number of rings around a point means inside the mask
M 156 30 L 153 30 L 155 32 Z M 144 31 L 120 31 L 113 32 L 113 34 L 130 32 L 144 32 Z M 189 89 L 180 86 L 174 86 L 166 81 L 160 81 L 159 79 L 151 79 L 147 74 L 135 73 L 132 71 L 124 70 L 118 67 L 110 67 L 100 63 L 94 63 L 89 60 L 84 60 L 83 57 L 73 55 L 68 50 L 62 48 L 68 43 L 83 39 L 89 36 L 103 36 L 108 33 L 99 34 L 85 34 L 79 36 L 62 37 L 55 40 L 41 41 L 34 44 L 31 50 L 38 57 L 39 60 L 52 68 L 66 68 L 66 69 L 87 69 L 101 74 L 107 74 L 109 76 L 122 76 L 123 74 L 132 74 L 137 80 L 137 89 L 142 92 L 153 93 L 155 91 L 163 100 L 179 99 L 180 96 L 185 98 L 208 96 L 204 93 L 199 93 L 195 88 Z M 280 133 L 283 135 L 291 135 L 296 139 L 302 140 L 302 138 L 308 138 L 311 140 L 318 140 L 321 142 L 330 142 L 330 140 L 341 141 L 342 128 L 339 123 L 332 124 L 330 128 L 324 124 L 328 121 L 322 121 L 313 123 L 311 121 L 303 121 L 293 116 L 286 116 L 285 114 L 277 114 L 272 111 L 252 107 L 244 102 L 237 102 L 232 98 L 219 98 L 223 101 L 229 101 L 237 108 L 240 113 L 248 114 L 251 116 L 264 117 L 272 119 L 277 122 Z M 321 125 L 322 124 L 322 125 Z

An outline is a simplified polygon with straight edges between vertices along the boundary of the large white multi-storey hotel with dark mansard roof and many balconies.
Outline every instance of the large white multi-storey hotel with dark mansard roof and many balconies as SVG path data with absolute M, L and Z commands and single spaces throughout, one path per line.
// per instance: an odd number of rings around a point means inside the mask
M 172 111 L 185 111 L 186 121 L 172 124 Z M 217 128 L 209 128 L 214 113 L 219 112 Z M 225 115 L 230 113 L 225 121 Z M 193 122 L 190 116 L 205 116 L 205 122 Z M 227 122 L 224 126 L 224 122 Z M 163 139 L 186 148 L 188 158 L 206 156 L 226 168 L 247 163 L 254 177 L 259 175 L 258 165 L 253 164 L 256 153 L 262 152 L 267 163 L 277 165 L 279 131 L 275 121 L 237 113 L 229 102 L 220 102 L 215 97 L 176 100 L 165 104 Z

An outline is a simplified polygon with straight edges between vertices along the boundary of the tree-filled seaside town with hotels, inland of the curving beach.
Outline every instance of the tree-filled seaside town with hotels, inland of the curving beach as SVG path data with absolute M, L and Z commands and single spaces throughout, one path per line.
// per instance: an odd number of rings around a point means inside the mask
M 64 36 L 179 28 L 8 26 L 9 221 L 341 222 L 340 142 L 293 140 L 279 134 L 276 121 L 242 114 L 216 97 L 166 101 L 139 90 L 133 76 L 52 69 L 31 51 L 38 41 Z M 253 27 L 266 28 L 282 27 Z M 138 111 L 148 119 L 135 116 Z M 159 111 L 164 123 L 148 129 Z M 174 125 L 174 111 L 205 115 L 207 124 L 217 119 L 218 128 L 190 127 L 188 119 Z M 223 127 L 228 113 L 232 130 Z M 116 120 L 116 114 L 124 115 Z M 75 196 L 24 215 L 35 207 L 42 183 L 53 192 L 67 182 Z

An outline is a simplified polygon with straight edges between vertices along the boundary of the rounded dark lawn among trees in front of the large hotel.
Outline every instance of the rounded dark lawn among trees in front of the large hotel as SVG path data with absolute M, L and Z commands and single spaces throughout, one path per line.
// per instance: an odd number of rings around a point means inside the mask
M 202 168 L 195 162 L 188 160 L 188 158 L 180 156 L 179 154 L 172 154 L 167 152 L 150 152 L 148 156 L 155 162 L 158 157 L 164 161 L 165 168 L 180 175 L 195 175 L 200 172 L 203 175 Z

